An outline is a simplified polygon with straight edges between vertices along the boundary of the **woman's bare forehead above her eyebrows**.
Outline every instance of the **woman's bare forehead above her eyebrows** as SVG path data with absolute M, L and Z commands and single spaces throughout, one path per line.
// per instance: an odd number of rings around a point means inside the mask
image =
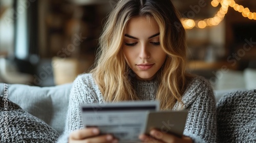
M 153 17 L 138 16 L 131 18 L 125 27 L 125 34 L 133 36 L 159 33 L 159 26 Z

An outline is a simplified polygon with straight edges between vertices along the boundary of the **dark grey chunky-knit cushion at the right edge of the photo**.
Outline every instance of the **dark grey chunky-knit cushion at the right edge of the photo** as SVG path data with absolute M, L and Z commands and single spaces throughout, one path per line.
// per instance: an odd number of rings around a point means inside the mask
M 225 94 L 217 107 L 220 142 L 256 142 L 256 89 Z

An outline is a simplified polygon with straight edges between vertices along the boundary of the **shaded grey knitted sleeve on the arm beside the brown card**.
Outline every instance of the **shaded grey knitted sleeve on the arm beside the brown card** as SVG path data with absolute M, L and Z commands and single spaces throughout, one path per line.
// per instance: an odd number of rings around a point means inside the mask
M 185 97 L 188 116 L 184 135 L 194 142 L 217 142 L 216 101 L 210 84 L 198 77 L 189 85 Z

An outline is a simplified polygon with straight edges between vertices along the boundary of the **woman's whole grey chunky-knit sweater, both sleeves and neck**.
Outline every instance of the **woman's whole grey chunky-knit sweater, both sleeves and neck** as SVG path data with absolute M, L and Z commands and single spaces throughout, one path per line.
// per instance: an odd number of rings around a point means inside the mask
M 155 100 L 157 81 L 137 81 L 135 87 L 140 100 Z M 210 84 L 202 77 L 195 77 L 183 94 L 182 101 L 185 104 L 184 108 L 189 111 L 183 134 L 192 138 L 194 142 L 216 142 L 216 102 Z M 68 142 L 72 131 L 83 128 L 79 108 L 83 103 L 104 103 L 92 74 L 80 75 L 73 83 L 65 131 L 59 137 L 59 143 Z M 180 109 L 181 104 L 177 102 L 173 110 Z

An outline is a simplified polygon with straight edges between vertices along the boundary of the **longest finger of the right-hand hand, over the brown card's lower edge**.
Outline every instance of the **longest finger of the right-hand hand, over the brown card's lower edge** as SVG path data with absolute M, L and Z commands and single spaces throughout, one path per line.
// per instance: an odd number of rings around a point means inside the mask
M 162 140 L 163 142 L 176 142 L 178 139 L 175 135 L 163 133 L 155 129 L 150 132 L 150 135 L 156 139 Z

